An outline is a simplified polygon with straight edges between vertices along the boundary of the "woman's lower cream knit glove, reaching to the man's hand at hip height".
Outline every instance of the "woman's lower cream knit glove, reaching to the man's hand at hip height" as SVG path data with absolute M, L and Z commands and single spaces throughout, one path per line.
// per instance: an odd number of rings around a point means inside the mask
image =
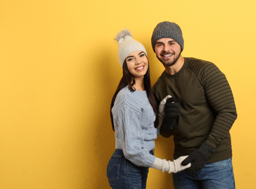
M 155 161 L 153 162 L 152 168 L 158 169 L 162 172 L 168 172 L 168 173 L 180 172 L 191 166 L 191 163 L 186 166 L 181 165 L 181 162 L 187 157 L 188 156 L 180 156 L 180 158 L 177 158 L 174 161 L 166 161 L 165 159 L 156 158 Z

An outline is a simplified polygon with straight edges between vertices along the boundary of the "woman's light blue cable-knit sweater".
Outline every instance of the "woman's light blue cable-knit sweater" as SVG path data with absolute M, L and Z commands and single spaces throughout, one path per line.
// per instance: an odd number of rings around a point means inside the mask
M 151 167 L 155 156 L 149 153 L 155 148 L 157 129 L 153 108 L 145 91 L 131 92 L 127 87 L 116 95 L 113 108 L 116 148 L 137 166 Z

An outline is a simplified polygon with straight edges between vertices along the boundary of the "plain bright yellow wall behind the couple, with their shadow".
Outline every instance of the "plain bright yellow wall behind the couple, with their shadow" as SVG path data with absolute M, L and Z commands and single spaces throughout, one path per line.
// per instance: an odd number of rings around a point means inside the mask
M 128 28 L 148 50 L 152 83 L 164 70 L 151 49 L 157 23 L 178 23 L 184 57 L 215 63 L 238 119 L 231 129 L 237 188 L 255 187 L 255 6 L 244 1 L 0 0 L 0 188 L 110 188 L 109 106 L 121 79 L 117 42 Z M 172 139 L 156 156 L 172 157 Z M 150 170 L 148 188 L 173 188 Z

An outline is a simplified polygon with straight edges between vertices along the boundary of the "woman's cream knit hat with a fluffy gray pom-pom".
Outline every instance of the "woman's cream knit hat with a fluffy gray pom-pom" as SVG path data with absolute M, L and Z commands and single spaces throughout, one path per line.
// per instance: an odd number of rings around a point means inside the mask
M 139 41 L 135 41 L 135 39 L 132 39 L 132 33 L 130 33 L 127 29 L 120 31 L 116 35 L 115 39 L 119 42 L 118 55 L 121 67 L 123 67 L 126 57 L 132 52 L 143 51 L 145 52 L 145 55 L 147 55 L 143 44 L 141 44 Z

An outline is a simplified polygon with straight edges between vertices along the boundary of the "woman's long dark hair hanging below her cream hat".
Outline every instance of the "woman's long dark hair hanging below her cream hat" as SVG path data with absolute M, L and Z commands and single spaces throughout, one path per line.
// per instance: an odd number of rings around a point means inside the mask
M 124 60 L 124 65 L 123 65 L 123 77 L 121 78 L 119 85 L 116 89 L 116 92 L 113 94 L 113 98 L 111 101 L 111 109 L 113 108 L 113 104 L 116 100 L 116 95 L 119 93 L 119 91 L 121 89 L 123 89 L 124 87 L 129 87 L 129 90 L 131 92 L 135 92 L 135 89 L 132 87 L 133 85 L 135 85 L 135 78 L 132 76 L 131 73 L 129 73 L 128 68 L 127 68 L 127 61 Z M 156 114 L 156 121 L 155 121 L 155 127 L 157 128 L 158 124 L 159 124 L 159 113 L 158 113 L 158 106 L 156 104 L 156 100 L 153 97 L 153 92 L 152 92 L 152 88 L 151 88 L 151 79 L 150 79 L 150 71 L 149 71 L 149 63 L 148 63 L 148 71 L 147 73 L 145 73 L 144 76 L 144 87 L 145 87 L 145 91 L 147 92 L 147 96 L 148 96 L 148 101 L 151 103 L 151 106 L 153 108 L 154 113 Z M 111 111 L 111 124 L 112 124 L 112 128 L 113 131 L 115 130 L 114 128 L 114 124 L 113 124 L 113 114 Z

